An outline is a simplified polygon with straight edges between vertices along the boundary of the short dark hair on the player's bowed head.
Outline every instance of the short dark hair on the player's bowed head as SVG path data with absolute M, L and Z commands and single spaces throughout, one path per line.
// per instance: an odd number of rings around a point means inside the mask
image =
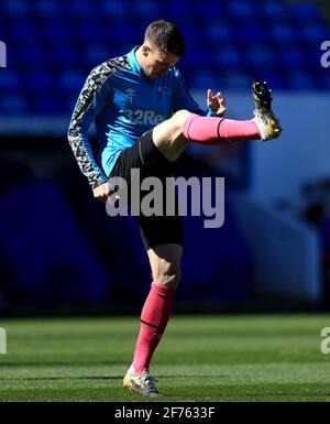
M 168 51 L 176 56 L 183 56 L 186 51 L 185 37 L 179 28 L 163 19 L 147 26 L 144 40 L 153 43 L 162 52 Z

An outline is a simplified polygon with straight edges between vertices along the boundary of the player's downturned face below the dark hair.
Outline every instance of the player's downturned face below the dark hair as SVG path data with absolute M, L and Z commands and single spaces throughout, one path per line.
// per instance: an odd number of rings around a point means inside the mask
M 167 74 L 170 67 L 179 61 L 179 56 L 170 52 L 162 52 L 153 46 L 145 47 L 144 72 L 150 78 Z

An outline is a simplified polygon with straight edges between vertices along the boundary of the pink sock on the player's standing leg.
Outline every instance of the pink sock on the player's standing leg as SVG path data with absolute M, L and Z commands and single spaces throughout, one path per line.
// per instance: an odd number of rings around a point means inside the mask
M 172 314 L 175 289 L 152 283 L 141 313 L 141 328 L 133 358 L 135 373 L 148 368 Z

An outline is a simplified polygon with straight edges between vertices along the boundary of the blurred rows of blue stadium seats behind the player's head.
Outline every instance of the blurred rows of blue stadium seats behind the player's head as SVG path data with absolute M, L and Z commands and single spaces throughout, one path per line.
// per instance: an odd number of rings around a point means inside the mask
M 0 69 L 0 86 L 8 101 L 0 112 L 67 115 L 89 70 L 139 44 L 158 18 L 186 34 L 180 67 L 194 89 L 241 89 L 270 76 L 279 89 L 330 87 L 319 51 L 329 28 L 312 3 L 3 0 L 1 8 L 8 69 Z

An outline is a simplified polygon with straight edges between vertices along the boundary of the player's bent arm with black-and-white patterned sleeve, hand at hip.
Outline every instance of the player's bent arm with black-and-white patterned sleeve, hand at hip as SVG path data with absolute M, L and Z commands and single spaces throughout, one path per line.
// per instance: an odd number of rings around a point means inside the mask
M 108 177 L 97 164 L 87 135 L 88 128 L 107 104 L 109 87 L 102 78 L 102 68 L 96 67 L 89 74 L 78 97 L 67 138 L 80 171 L 88 178 L 96 198 L 105 199 L 109 194 Z

